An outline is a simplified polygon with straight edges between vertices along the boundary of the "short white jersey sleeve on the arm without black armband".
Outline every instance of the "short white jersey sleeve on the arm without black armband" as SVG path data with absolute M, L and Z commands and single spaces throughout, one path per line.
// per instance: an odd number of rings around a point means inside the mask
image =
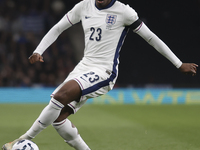
M 67 18 L 72 25 L 81 21 L 83 4 L 84 1 L 79 2 L 67 13 Z

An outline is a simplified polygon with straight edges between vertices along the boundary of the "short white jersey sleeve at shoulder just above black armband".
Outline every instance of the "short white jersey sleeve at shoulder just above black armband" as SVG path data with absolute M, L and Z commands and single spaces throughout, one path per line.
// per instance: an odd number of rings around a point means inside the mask
M 131 8 L 129 5 L 125 6 L 125 11 L 124 11 L 124 24 L 125 26 L 129 26 L 133 24 L 136 20 L 138 20 L 138 14 L 137 12 Z

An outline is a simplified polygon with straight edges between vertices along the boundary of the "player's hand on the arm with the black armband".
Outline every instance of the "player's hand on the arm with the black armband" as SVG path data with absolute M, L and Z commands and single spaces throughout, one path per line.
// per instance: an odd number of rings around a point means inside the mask
M 179 70 L 180 70 L 182 73 L 195 76 L 196 73 L 197 73 L 197 67 L 198 67 L 198 65 L 197 65 L 197 64 L 194 64 L 194 63 L 183 63 L 183 64 L 181 65 L 181 67 L 179 68 Z

